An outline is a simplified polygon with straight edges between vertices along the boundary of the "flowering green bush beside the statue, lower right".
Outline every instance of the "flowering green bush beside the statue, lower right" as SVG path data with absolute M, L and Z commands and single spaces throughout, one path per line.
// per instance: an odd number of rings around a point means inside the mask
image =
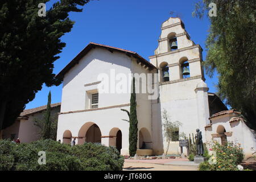
M 238 171 L 237 166 L 243 160 L 243 151 L 240 144 L 228 142 L 224 145 L 213 142 L 210 150 L 216 152 L 216 156 L 212 156 L 214 163 L 210 164 L 208 161 L 201 163 L 200 171 Z

